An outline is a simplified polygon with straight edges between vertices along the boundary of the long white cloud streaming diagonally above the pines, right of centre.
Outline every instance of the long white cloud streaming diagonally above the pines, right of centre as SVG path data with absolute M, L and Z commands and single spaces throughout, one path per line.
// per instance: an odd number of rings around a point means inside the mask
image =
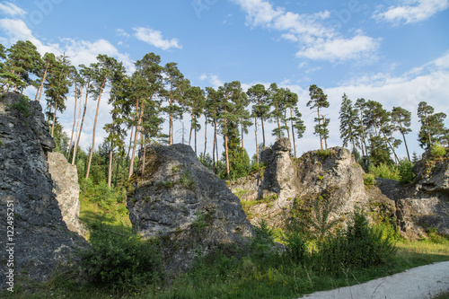
M 380 40 L 357 31 L 353 37 L 342 37 L 333 28 L 321 24 L 330 12 L 300 14 L 274 8 L 267 0 L 232 0 L 247 13 L 246 23 L 283 32 L 285 40 L 298 43 L 297 57 L 339 62 L 348 59 L 371 59 L 379 48 Z

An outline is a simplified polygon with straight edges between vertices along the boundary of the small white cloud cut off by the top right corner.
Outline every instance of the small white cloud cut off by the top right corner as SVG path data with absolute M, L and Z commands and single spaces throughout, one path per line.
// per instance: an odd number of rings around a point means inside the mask
M 449 7 L 448 0 L 401 0 L 400 2 L 401 5 L 390 6 L 385 11 L 379 9 L 374 13 L 374 19 L 396 25 L 401 22 L 421 22 Z

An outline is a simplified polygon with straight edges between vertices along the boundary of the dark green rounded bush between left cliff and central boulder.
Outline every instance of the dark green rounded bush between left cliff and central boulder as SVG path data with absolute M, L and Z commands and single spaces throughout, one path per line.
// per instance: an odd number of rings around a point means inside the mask
M 154 243 L 100 227 L 91 234 L 82 266 L 92 283 L 118 293 L 134 293 L 163 279 L 163 263 Z

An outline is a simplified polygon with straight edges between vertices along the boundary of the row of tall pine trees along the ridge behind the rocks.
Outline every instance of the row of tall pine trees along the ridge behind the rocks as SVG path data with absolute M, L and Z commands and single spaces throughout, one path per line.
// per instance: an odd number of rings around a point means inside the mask
M 95 145 L 96 123 L 100 102 L 104 101 L 101 98 L 105 94 L 109 95 L 107 101 L 112 107 L 111 118 L 103 128 L 108 136 L 101 145 L 102 149 L 98 150 L 102 152 L 104 160 L 109 162 L 105 174 L 109 187 L 114 185 L 115 165 L 119 164 L 120 172 L 126 172 L 125 169 L 128 168 L 128 178 L 136 171 L 135 163 L 131 162 L 134 162 L 139 147 L 142 149 L 150 143 L 174 143 L 174 121 L 182 120 L 186 115 L 189 116 L 189 129 L 183 128 L 183 142 L 188 142 L 199 155 L 197 136 L 199 130 L 204 129 L 203 158 L 209 154 L 212 160 L 210 168 L 227 180 L 247 175 L 255 163 L 260 163 L 260 146 L 263 149 L 268 145 L 265 130 L 267 121 L 276 124 L 271 132 L 272 136 L 286 136 L 290 139 L 295 155 L 295 138 L 304 136 L 304 120 L 298 109 L 300 99 L 295 92 L 278 87 L 275 83 L 269 86 L 255 84 L 246 92 L 238 81 L 225 83 L 216 89 L 207 87 L 203 90 L 190 85 L 177 63 L 162 66 L 161 57 L 154 53 L 147 53 L 137 60 L 136 71 L 129 75 L 121 62 L 106 55 L 99 54 L 97 61 L 89 66 L 72 66 L 70 57 L 66 55 L 56 57 L 52 53 L 45 53 L 41 57 L 29 40 L 19 40 L 10 48 L 0 46 L 2 92 L 22 93 L 31 86 L 36 89 L 35 101 L 40 101 L 43 94 L 47 103 L 46 115 L 51 135 L 56 138 L 60 138 L 62 132 L 57 114 L 66 110 L 66 99 L 73 92 L 75 109 L 72 133 L 64 141 L 66 144 L 59 148 L 61 151 L 66 150 L 67 158 L 73 164 L 78 164 L 77 159 L 85 159 L 84 153 L 79 153 L 80 136 L 85 129 L 87 108 L 93 109 L 92 104 L 96 106 L 92 143 L 87 163 L 83 167 L 85 179 L 95 175 L 93 173 L 99 173 L 93 170 L 92 165 L 95 163 L 94 155 L 98 146 Z M 309 95 L 310 101 L 306 104 L 316 111 L 314 134 L 320 138 L 321 149 L 325 150 L 328 147 L 331 119 L 326 117 L 324 110 L 330 107 L 330 101 L 328 95 L 315 84 L 309 87 Z M 433 107 L 422 101 L 418 105 L 417 115 L 421 123 L 418 141 L 423 148 L 430 150 L 436 143 L 448 145 L 449 130 L 445 128 L 445 113 L 435 112 Z M 168 132 L 163 133 L 165 119 L 168 122 Z M 201 119 L 204 119 L 203 124 L 200 123 Z M 380 102 L 366 101 L 363 98 L 353 102 L 345 93 L 339 110 L 342 145 L 351 147 L 357 162 L 365 171 L 371 164 L 375 167 L 392 163 L 399 166 L 400 158 L 396 151 L 401 144 L 405 146 L 407 159 L 410 161 L 406 138 L 411 132 L 410 119 L 411 112 L 401 107 L 393 107 L 392 111 L 388 111 Z M 256 154 L 252 164 L 244 145 L 244 137 L 251 126 L 254 127 L 256 141 Z M 214 132 L 212 146 L 207 146 L 208 127 L 212 127 Z M 260 134 L 261 142 L 258 139 Z M 188 137 L 184 138 L 184 135 Z M 217 135 L 224 139 L 221 155 Z M 397 135 L 401 138 L 397 138 Z M 95 184 L 101 180 L 98 176 L 93 179 Z

